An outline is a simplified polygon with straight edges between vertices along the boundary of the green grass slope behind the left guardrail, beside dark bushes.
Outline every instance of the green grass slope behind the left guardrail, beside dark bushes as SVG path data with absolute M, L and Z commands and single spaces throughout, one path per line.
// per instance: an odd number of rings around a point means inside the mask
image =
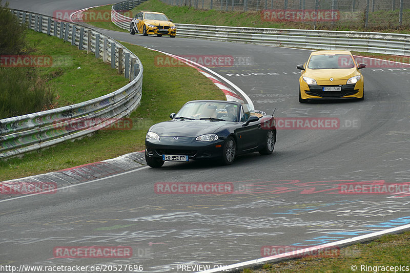
M 71 46 L 53 36 L 30 30 L 27 44 L 33 48 L 32 55 L 52 57 L 51 67 L 39 68 L 39 74 L 54 95 L 56 107 L 63 107 L 111 93 L 129 80 L 94 54 Z

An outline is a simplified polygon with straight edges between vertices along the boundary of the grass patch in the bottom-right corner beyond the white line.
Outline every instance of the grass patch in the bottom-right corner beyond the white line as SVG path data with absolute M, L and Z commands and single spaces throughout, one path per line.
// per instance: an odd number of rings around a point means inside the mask
M 275 264 L 264 264 L 260 269 L 244 269 L 243 273 L 316 273 L 337 272 L 391 272 L 392 270 L 360 270 L 360 265 L 367 266 L 410 266 L 410 232 L 397 235 L 385 235 L 368 243 L 358 243 L 340 249 L 340 255 L 334 258 L 305 257 L 283 261 Z M 394 272 L 394 270 L 393 270 Z M 396 272 L 405 272 L 397 270 Z

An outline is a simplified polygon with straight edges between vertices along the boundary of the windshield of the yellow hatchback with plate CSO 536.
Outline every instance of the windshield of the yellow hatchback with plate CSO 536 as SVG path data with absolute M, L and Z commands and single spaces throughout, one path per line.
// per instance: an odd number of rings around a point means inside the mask
M 324 54 L 311 56 L 308 64 L 309 69 L 339 69 L 354 68 L 355 63 L 348 54 Z

